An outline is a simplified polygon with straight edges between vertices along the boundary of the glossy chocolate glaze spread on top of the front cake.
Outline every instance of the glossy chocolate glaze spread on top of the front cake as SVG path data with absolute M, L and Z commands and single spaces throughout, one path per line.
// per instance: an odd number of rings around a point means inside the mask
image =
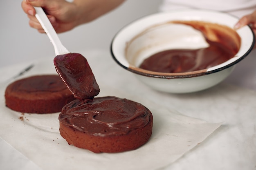
M 94 136 L 125 135 L 142 128 L 152 114 L 143 105 L 118 97 L 74 100 L 63 107 L 59 121 Z

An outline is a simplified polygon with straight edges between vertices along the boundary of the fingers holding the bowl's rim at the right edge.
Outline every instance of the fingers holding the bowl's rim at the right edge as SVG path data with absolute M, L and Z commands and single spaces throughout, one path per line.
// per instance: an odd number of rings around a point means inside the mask
M 249 14 L 243 16 L 234 26 L 234 29 L 240 29 L 241 27 L 249 25 L 254 32 L 254 37 L 256 38 L 256 10 Z M 256 49 L 256 44 L 254 45 L 254 49 Z

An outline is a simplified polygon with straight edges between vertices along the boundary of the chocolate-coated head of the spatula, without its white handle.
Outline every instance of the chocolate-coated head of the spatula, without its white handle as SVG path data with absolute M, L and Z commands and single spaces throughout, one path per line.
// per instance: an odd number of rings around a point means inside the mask
M 54 58 L 57 73 L 76 99 L 92 99 L 100 92 L 90 65 L 83 55 L 67 53 Z

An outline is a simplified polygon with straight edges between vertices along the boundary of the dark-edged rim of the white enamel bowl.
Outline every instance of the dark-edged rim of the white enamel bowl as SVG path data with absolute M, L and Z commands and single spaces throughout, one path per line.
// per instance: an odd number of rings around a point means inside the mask
M 203 69 L 203 70 L 198 70 L 198 71 L 190 71 L 190 72 L 185 72 L 185 73 L 160 73 L 160 72 L 155 72 L 155 71 L 148 71 L 148 70 L 144 70 L 142 68 L 138 68 L 135 66 L 132 66 L 129 64 L 129 66 L 125 66 L 124 64 L 122 64 L 116 57 L 115 55 L 115 50 L 114 50 L 114 43 L 115 40 L 118 38 L 118 36 L 124 31 L 126 30 L 126 28 L 128 26 L 130 26 L 131 24 L 134 24 L 136 22 L 140 22 L 141 20 L 144 20 L 146 18 L 150 18 L 153 17 L 155 15 L 164 15 L 165 13 L 167 14 L 174 14 L 174 13 L 180 13 L 180 12 L 202 12 L 202 13 L 216 13 L 216 14 L 221 14 L 221 15 L 226 15 L 229 16 L 231 18 L 236 19 L 237 21 L 239 20 L 238 17 L 231 15 L 229 13 L 225 13 L 225 12 L 221 12 L 221 11 L 214 11 L 214 10 L 204 10 L 204 9 L 184 9 L 184 10 L 174 10 L 174 11 L 164 11 L 164 12 L 157 12 L 157 13 L 153 13 L 150 15 L 146 15 L 143 16 L 141 18 L 138 18 L 128 24 L 126 24 L 123 28 L 121 28 L 112 38 L 111 44 L 110 44 L 110 53 L 112 55 L 112 58 L 115 60 L 115 62 L 117 62 L 117 64 L 119 64 L 121 67 L 123 67 L 124 69 L 132 72 L 132 73 L 136 73 L 139 75 L 144 75 L 146 77 L 156 77 L 156 78 L 166 78 L 166 79 L 173 79 L 173 78 L 190 78 L 190 77 L 198 77 L 198 76 L 202 76 L 202 75 L 209 75 L 212 73 L 216 73 L 218 71 L 222 71 L 226 68 L 229 68 L 231 66 L 234 66 L 235 64 L 237 64 L 238 62 L 240 62 L 241 60 L 243 60 L 253 49 L 254 44 L 255 44 L 255 37 L 254 37 L 254 32 L 252 30 L 252 28 L 248 25 L 246 25 L 245 27 L 247 27 L 247 29 L 249 29 L 251 35 L 252 35 L 252 44 L 251 46 L 249 46 L 249 48 L 247 49 L 247 51 L 239 56 L 237 59 L 235 59 L 234 61 L 232 61 L 229 64 L 226 64 L 224 66 L 220 66 L 222 64 L 219 64 L 217 66 L 213 66 L 211 68 L 208 69 Z M 234 59 L 234 57 L 233 57 Z M 231 59 L 230 59 L 231 60 Z M 219 67 L 220 66 L 220 67 Z

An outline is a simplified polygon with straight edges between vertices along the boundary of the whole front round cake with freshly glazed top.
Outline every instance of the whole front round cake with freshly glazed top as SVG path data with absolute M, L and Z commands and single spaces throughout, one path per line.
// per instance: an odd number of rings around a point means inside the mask
M 118 97 L 76 99 L 59 115 L 60 133 L 69 145 L 92 152 L 123 152 L 145 144 L 153 115 L 145 106 Z

